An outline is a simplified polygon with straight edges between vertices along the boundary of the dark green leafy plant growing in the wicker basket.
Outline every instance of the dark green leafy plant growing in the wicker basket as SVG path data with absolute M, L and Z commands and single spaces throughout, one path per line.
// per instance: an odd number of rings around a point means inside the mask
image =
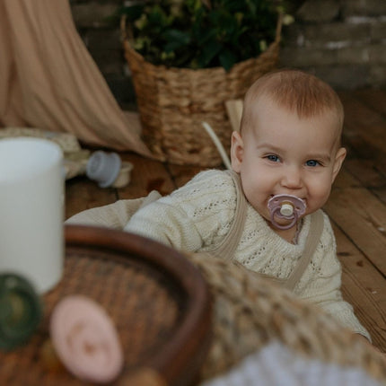
M 268 48 L 280 12 L 281 0 L 148 0 L 118 10 L 132 47 L 154 65 L 225 70 Z

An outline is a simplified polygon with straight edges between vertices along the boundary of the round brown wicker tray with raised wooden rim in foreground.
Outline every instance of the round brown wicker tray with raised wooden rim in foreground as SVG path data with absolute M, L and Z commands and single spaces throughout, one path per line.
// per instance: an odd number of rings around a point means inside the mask
M 0 353 L 0 384 L 82 384 L 66 370 L 50 373 L 41 361 L 51 311 L 67 294 L 90 296 L 114 320 L 125 355 L 116 384 L 194 381 L 211 336 L 210 295 L 197 268 L 139 236 L 66 225 L 64 276 L 44 296 L 44 319 L 29 344 Z

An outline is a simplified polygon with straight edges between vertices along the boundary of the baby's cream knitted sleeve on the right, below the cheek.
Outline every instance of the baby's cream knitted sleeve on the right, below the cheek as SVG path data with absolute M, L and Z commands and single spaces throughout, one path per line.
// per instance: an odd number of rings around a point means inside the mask
M 324 214 L 324 230 L 310 266 L 295 288 L 295 293 L 311 303 L 318 304 L 335 320 L 355 333 L 370 335 L 357 320 L 353 307 L 344 301 L 340 287 L 342 269 L 337 257 L 337 246 L 329 217 Z

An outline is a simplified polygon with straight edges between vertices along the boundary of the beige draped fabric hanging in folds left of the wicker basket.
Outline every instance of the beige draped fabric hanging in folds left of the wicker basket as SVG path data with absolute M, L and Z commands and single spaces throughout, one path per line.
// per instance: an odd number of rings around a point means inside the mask
M 83 45 L 68 0 L 0 0 L 0 126 L 150 155 Z M 0 128 L 1 129 L 1 128 Z

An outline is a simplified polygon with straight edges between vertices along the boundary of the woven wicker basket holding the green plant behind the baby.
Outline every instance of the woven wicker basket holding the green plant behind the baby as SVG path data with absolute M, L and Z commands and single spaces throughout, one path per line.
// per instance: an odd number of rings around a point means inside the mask
M 232 127 L 224 102 L 242 98 L 251 83 L 275 68 L 281 24 L 279 17 L 276 39 L 264 53 L 226 72 L 223 67 L 192 70 L 154 66 L 131 47 L 122 19 L 123 46 L 136 90 L 143 137 L 156 158 L 181 165 L 221 164 L 221 156 L 202 121 L 214 129 L 228 149 Z

